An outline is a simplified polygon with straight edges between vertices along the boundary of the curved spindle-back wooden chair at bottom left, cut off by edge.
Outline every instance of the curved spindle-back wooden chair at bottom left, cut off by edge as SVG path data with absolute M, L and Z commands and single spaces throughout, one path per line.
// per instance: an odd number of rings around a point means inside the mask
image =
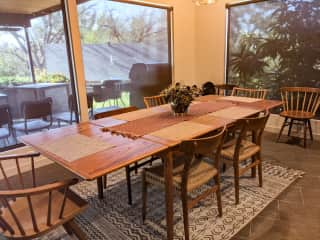
M 7 239 L 33 239 L 63 225 L 69 234 L 75 233 L 79 239 L 84 239 L 84 234 L 73 219 L 86 208 L 87 203 L 69 189 L 78 180 L 37 186 L 34 160 L 39 155 L 32 153 L 0 157 L 0 169 L 6 186 L 0 190 L 0 233 Z M 4 167 L 8 166 L 10 160 L 15 163 L 17 170 L 15 181 L 13 177 L 8 177 L 12 164 L 8 169 Z M 30 181 L 21 172 L 21 161 L 30 161 Z

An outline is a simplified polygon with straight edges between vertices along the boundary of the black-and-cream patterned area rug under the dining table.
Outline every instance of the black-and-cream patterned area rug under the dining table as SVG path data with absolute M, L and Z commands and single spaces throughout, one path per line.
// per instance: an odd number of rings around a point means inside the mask
M 291 183 L 303 175 L 302 171 L 287 169 L 271 163 L 263 165 L 264 187 L 248 172 L 240 180 L 240 204 L 234 204 L 232 169 L 222 176 L 223 217 L 218 217 L 216 199 L 208 197 L 189 213 L 190 234 L 193 240 L 227 240 L 255 218 Z M 76 221 L 87 234 L 87 239 L 132 240 L 165 239 L 164 192 L 149 188 L 145 224 L 141 221 L 141 179 L 133 174 L 133 205 L 127 204 L 124 170 L 108 176 L 106 198 L 96 197 L 95 182 L 81 182 L 73 190 L 89 201 L 90 207 Z M 184 239 L 181 201 L 175 199 L 175 239 Z M 42 239 L 74 239 L 62 228 Z

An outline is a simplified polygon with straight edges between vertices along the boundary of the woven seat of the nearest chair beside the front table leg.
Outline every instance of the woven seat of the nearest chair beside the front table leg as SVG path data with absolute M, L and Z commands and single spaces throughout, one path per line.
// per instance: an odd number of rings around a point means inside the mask
M 183 168 L 184 161 L 183 158 L 180 157 L 174 161 L 173 169 L 173 184 L 178 191 L 181 190 Z M 164 186 L 165 179 L 163 170 L 163 164 L 146 169 L 146 181 L 155 185 Z M 196 161 L 189 170 L 187 191 L 191 192 L 209 182 L 217 173 L 218 170 L 213 165 L 203 160 Z

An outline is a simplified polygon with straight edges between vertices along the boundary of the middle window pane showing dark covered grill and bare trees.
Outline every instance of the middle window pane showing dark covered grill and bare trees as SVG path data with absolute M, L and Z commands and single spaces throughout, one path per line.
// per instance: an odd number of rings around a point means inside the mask
M 91 115 L 144 107 L 171 83 L 167 10 L 91 0 L 78 13 Z

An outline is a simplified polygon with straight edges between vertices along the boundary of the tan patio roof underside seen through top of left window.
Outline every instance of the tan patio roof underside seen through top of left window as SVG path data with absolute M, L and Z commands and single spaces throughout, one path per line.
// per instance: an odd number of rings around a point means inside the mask
M 60 0 L 0 0 L 0 13 L 33 14 L 60 5 Z

